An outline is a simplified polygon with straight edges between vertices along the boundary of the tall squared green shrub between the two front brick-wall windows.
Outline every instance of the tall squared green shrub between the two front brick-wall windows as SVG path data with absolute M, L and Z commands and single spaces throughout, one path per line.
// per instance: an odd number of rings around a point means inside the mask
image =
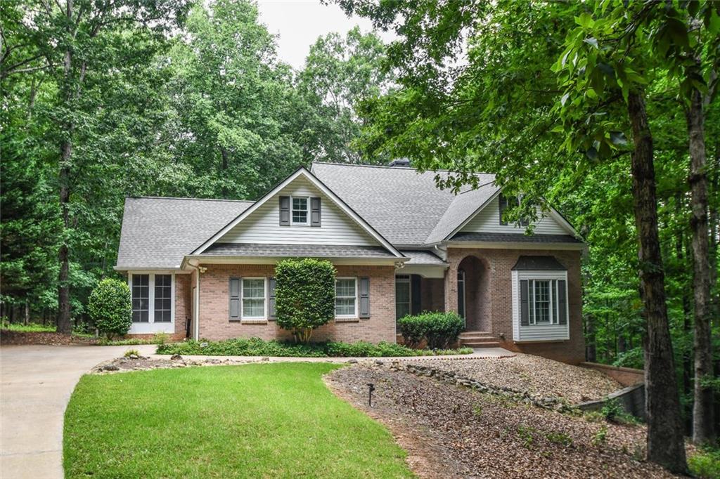
M 277 324 L 302 343 L 335 317 L 335 268 L 312 258 L 279 261 L 275 267 Z

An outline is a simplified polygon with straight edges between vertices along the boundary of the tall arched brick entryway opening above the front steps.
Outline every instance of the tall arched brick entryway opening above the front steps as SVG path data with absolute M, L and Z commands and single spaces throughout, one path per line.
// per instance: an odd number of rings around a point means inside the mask
M 457 306 L 467 331 L 490 331 L 490 269 L 475 256 L 467 256 L 457 270 Z

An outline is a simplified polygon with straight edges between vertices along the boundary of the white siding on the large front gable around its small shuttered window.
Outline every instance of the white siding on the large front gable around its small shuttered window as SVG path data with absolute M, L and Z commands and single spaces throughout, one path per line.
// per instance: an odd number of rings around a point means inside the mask
M 319 196 L 321 198 L 320 227 L 280 226 L 279 196 Z M 379 245 L 359 224 L 302 176 L 282 188 L 217 242 L 266 245 Z

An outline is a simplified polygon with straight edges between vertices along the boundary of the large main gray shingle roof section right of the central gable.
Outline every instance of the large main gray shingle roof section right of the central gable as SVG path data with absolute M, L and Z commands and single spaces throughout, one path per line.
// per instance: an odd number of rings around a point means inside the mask
M 446 172 L 313 163 L 312 173 L 394 245 L 444 239 L 498 190 L 492 184 L 495 176 L 485 174 L 478 175 L 479 184 L 485 186 L 456 196 L 436 186 L 436 175 L 444 178 Z

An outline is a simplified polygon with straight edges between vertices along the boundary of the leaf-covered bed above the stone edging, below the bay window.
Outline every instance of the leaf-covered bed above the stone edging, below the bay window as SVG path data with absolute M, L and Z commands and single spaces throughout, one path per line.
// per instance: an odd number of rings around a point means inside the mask
M 412 363 L 412 360 L 407 362 Z M 601 399 L 623 387 L 597 370 L 523 354 L 483 361 L 433 358 L 418 364 L 479 380 L 490 386 L 504 386 L 536 396 L 565 398 L 570 403 Z

